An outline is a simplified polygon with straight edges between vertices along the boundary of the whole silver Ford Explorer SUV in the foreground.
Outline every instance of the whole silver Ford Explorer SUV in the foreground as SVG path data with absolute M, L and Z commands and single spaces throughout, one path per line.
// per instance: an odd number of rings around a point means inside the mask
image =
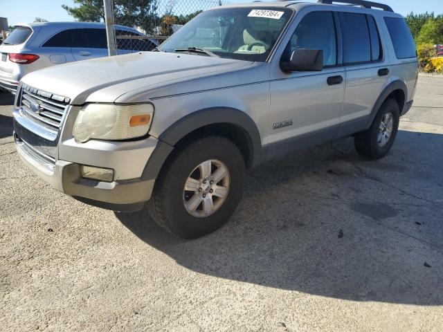
M 157 52 L 26 75 L 19 155 L 84 203 L 129 212 L 149 201 L 184 238 L 226 223 L 245 169 L 266 160 L 351 135 L 359 154 L 381 158 L 413 103 L 415 44 L 388 6 L 347 3 L 358 6 L 214 8 Z

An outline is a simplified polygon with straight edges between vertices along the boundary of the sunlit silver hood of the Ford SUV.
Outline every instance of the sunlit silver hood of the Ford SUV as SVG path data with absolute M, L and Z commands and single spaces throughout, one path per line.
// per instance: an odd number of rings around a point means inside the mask
M 44 68 L 26 75 L 22 82 L 71 98 L 71 104 L 114 102 L 120 95 L 135 89 L 149 91 L 164 86 L 165 82 L 232 71 L 251 64 L 202 55 L 141 52 Z M 114 89 L 109 89 L 112 86 Z

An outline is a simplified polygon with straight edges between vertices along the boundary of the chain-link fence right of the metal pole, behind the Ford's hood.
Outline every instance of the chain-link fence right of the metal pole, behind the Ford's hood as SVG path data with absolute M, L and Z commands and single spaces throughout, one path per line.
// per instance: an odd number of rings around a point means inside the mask
M 200 12 L 228 4 L 223 0 L 105 1 L 111 1 L 113 8 L 118 50 L 152 50 Z M 139 33 L 118 25 L 134 28 Z

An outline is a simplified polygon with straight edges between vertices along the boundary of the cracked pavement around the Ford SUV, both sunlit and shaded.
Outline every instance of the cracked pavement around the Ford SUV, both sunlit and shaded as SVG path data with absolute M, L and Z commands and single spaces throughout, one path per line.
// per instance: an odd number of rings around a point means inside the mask
M 249 172 L 221 230 L 165 234 L 19 162 L 0 95 L 2 331 L 443 331 L 443 80 L 390 154 L 346 138 Z

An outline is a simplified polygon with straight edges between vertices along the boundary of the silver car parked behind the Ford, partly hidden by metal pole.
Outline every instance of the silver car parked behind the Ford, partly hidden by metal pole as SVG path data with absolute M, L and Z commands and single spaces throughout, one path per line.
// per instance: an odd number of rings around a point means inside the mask
M 116 26 L 116 35 L 141 36 L 126 26 Z M 152 50 L 153 39 L 117 39 L 118 54 Z M 105 24 L 45 22 L 20 24 L 0 45 L 0 88 L 12 93 L 19 80 L 37 69 L 67 62 L 106 57 Z

